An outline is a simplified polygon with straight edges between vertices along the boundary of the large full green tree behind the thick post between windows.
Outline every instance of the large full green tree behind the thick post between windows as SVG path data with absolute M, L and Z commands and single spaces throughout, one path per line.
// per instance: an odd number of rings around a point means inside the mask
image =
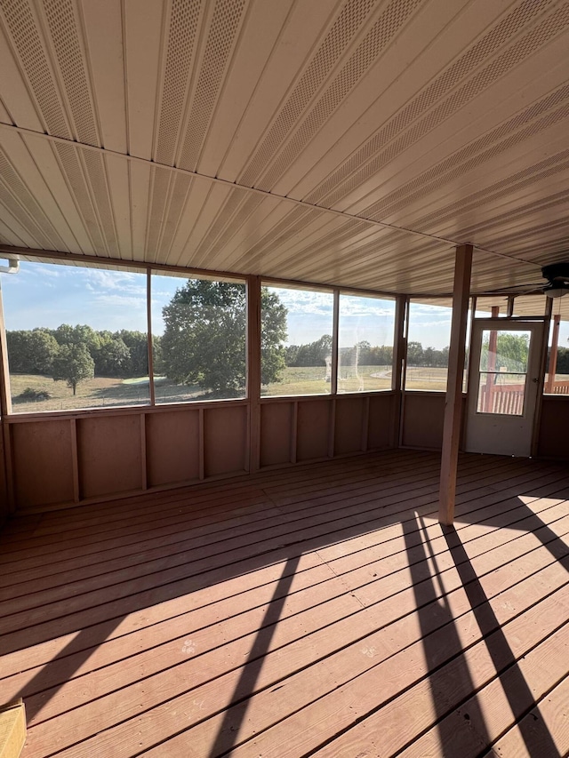
M 188 279 L 163 308 L 161 340 L 164 371 L 180 384 L 236 394 L 245 385 L 244 284 Z M 261 292 L 264 311 L 263 382 L 276 381 L 282 362 L 280 342 L 286 334 L 286 309 L 278 298 Z M 267 310 L 269 313 L 267 315 Z

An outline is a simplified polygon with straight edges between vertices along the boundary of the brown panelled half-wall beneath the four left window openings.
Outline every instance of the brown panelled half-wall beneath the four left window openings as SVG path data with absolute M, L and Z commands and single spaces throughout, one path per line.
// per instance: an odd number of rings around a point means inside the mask
M 253 442 L 261 468 L 381 450 L 393 444 L 394 403 L 391 392 L 263 399 L 258 441 L 249 401 L 12 416 L 4 420 L 12 505 L 58 507 L 246 474 Z

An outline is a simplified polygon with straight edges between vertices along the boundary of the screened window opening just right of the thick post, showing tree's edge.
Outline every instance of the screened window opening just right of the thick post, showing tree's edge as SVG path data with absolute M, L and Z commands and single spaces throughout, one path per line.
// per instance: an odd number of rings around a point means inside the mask
M 332 386 L 333 292 L 261 288 L 261 395 L 325 395 Z

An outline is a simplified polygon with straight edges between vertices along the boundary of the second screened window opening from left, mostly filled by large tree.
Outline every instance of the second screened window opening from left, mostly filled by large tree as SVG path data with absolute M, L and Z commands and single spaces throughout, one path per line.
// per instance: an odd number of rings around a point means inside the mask
M 156 403 L 244 398 L 246 286 L 153 273 Z

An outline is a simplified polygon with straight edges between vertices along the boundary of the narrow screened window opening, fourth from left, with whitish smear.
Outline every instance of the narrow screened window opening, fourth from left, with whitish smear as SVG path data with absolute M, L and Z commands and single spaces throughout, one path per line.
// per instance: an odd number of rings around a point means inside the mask
M 340 295 L 338 392 L 391 389 L 395 302 Z

